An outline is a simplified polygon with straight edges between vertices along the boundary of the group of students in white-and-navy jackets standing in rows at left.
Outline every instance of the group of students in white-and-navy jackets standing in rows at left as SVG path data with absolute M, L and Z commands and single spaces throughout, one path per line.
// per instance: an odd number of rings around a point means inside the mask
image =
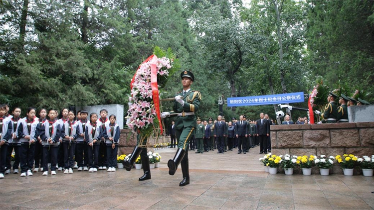
M 80 110 L 75 116 L 68 108 L 39 110 L 29 107 L 21 118 L 21 109 L 0 105 L 0 179 L 4 175 L 32 176 L 32 172 L 43 172 L 43 176 L 56 175 L 56 171 L 72 174 L 77 171 L 116 171 L 120 127 L 114 114 L 107 118 L 108 111 L 100 110 L 100 118 Z M 14 163 L 11 166 L 11 155 Z M 108 168 L 108 169 L 107 169 Z M 32 172 L 31 172 L 32 171 Z

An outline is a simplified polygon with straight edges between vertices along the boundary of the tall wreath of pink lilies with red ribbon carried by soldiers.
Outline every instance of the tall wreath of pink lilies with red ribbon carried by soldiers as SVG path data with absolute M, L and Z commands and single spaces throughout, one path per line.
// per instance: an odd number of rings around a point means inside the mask
M 140 135 L 138 146 L 153 147 L 157 142 L 151 144 L 149 137 L 158 139 L 163 134 L 159 92 L 179 69 L 178 59 L 170 48 L 164 52 L 155 47 L 154 54 L 135 73 L 130 84 L 131 96 L 126 118 L 129 128 Z

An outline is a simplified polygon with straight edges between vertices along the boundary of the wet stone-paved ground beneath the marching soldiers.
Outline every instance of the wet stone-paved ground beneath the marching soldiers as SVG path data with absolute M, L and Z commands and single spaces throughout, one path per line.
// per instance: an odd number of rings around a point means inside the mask
M 0 209 L 77 210 L 262 210 L 373 209 L 374 178 L 344 175 L 269 175 L 258 162 L 258 149 L 247 154 L 189 153 L 190 184 L 179 187 L 180 168 L 168 174 L 167 161 L 176 149 L 162 155 L 152 179 L 139 182 L 143 170 L 76 172 L 56 176 L 0 180 Z

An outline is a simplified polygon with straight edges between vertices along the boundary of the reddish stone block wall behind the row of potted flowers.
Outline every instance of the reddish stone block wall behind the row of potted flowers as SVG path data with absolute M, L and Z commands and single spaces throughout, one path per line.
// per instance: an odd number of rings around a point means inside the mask
M 276 155 L 374 155 L 374 122 L 271 125 L 270 130 Z M 343 173 L 334 165 L 331 173 Z M 313 172 L 319 173 L 318 168 Z

